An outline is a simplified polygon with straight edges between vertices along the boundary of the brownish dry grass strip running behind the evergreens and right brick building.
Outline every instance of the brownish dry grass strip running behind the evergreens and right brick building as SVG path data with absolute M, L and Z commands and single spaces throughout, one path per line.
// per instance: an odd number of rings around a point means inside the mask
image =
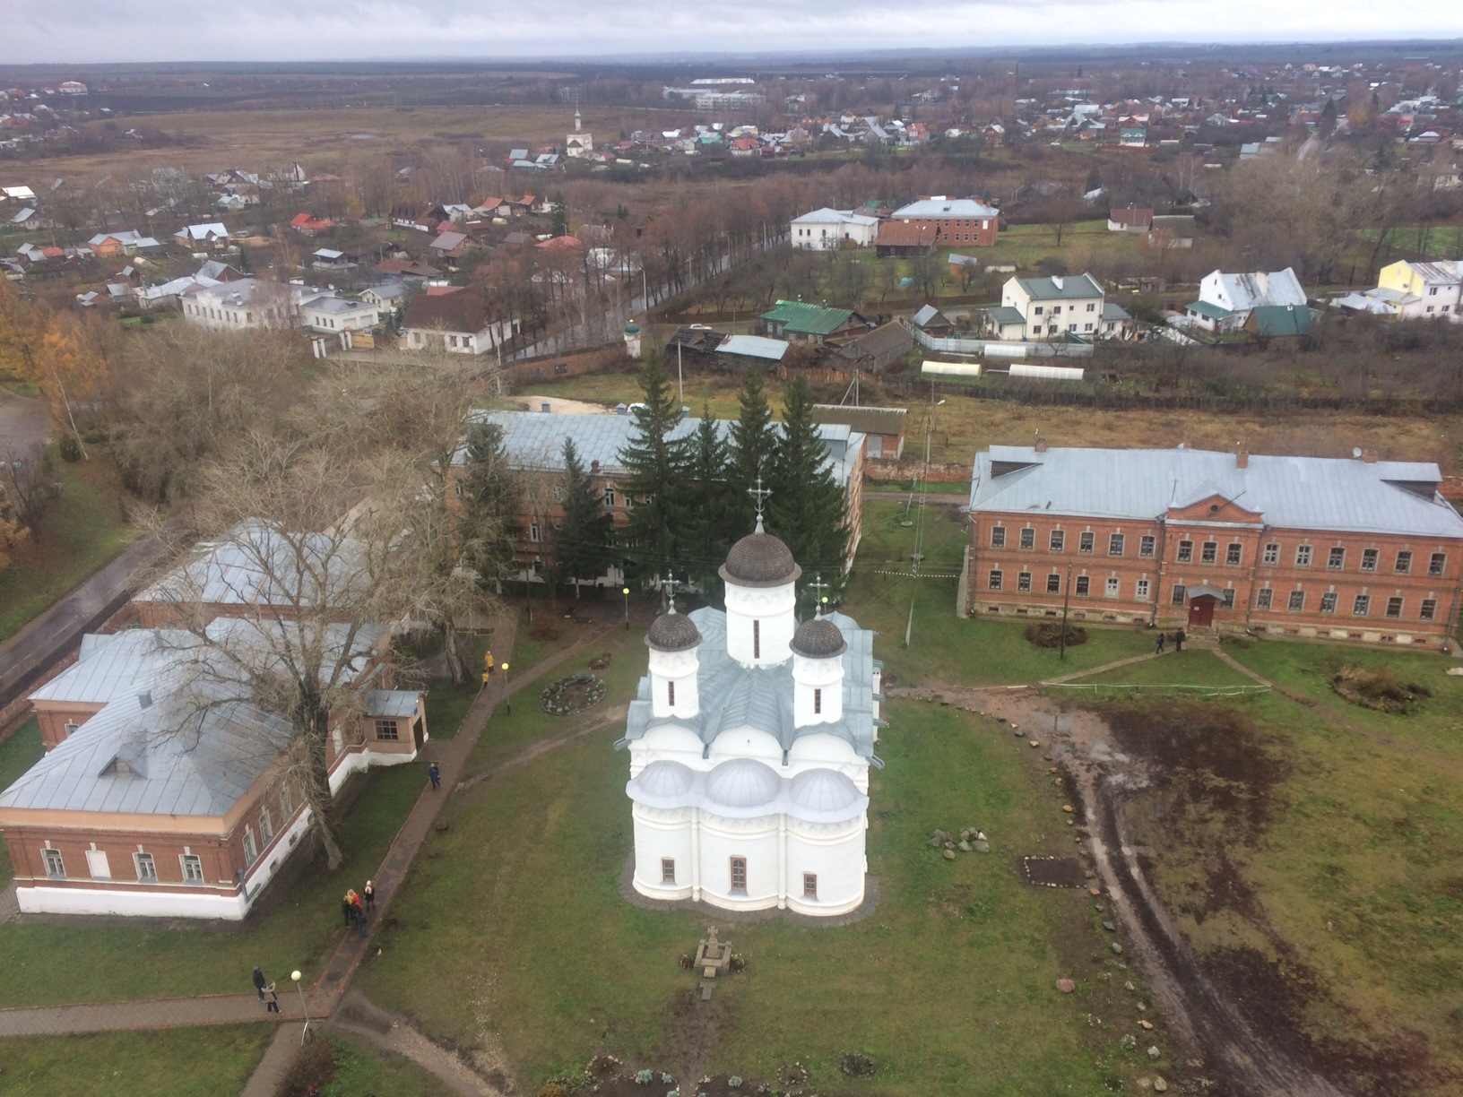
M 669 367 L 674 376 L 674 361 Z M 685 376 L 685 402 L 692 414 L 699 415 L 702 402 L 710 401 L 712 415 L 736 417 L 736 392 L 740 383 L 736 374 L 686 370 Z M 635 376 L 629 373 L 537 383 L 533 391 L 610 405 L 641 398 Z M 837 402 L 838 395 L 831 399 Z M 878 389 L 865 385 L 865 404 L 884 399 Z M 1031 407 L 951 393 L 941 393 L 941 399 L 945 402 L 933 410 L 928 398 L 888 401 L 894 407 L 910 410 L 904 449 L 907 458 L 923 456 L 925 418 L 933 411 L 930 459 L 936 462 L 970 462 L 977 449 L 990 445 L 1030 445 L 1036 434 L 1042 434 L 1053 446 L 1166 448 L 1185 442 L 1195 449 L 1244 448 L 1251 453 L 1298 456 L 1349 456 L 1355 446 L 1362 446 L 1375 449 L 1384 461 L 1437 461 L 1444 474 L 1463 470 L 1463 415 L 1362 415 L 1337 411 L 1235 415 Z M 768 402 L 777 414 L 781 408 L 777 382 L 768 382 Z

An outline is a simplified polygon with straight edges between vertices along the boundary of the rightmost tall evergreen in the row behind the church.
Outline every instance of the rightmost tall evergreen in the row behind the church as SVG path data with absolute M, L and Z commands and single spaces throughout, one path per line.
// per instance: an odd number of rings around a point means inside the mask
M 821 572 L 837 587 L 849 548 L 843 487 L 828 467 L 828 446 L 813 420 L 813 395 L 797 374 L 787 386 L 783 430 L 771 461 L 768 532 L 780 537 L 805 575 Z

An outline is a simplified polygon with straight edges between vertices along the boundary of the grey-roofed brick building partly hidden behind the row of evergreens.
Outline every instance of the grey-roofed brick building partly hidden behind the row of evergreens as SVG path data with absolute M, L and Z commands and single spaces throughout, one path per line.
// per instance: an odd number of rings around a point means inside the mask
M 756 336 L 736 336 L 756 338 Z M 784 344 L 786 347 L 786 344 Z M 546 407 L 552 407 L 546 401 Z M 503 431 L 503 448 L 514 468 L 527 474 L 528 490 L 524 493 L 524 513 L 516 522 L 516 557 L 522 565 L 522 578 L 541 581 L 553 565 L 553 531 L 563 518 L 563 443 L 573 448 L 594 483 L 595 494 L 604 500 L 616 528 L 629 525 L 629 512 L 635 500 L 629 499 L 620 484 L 629 475 L 620 462 L 620 453 L 636 436 L 635 417 L 625 414 L 576 415 L 549 411 L 480 411 L 474 412 L 483 423 L 494 423 Z M 682 418 L 670 431 L 670 439 L 693 437 L 701 426 L 698 418 Z M 780 430 L 778 424 L 772 424 Z M 717 420 L 723 440 L 730 437 L 732 424 Z M 819 434 L 828 448 L 828 465 L 834 481 L 844 493 L 844 525 L 849 528 L 849 554 L 844 568 L 853 566 L 853 556 L 863 532 L 863 434 L 846 424 L 824 423 Z M 465 461 L 459 452 L 455 465 Z M 606 569 L 585 585 L 619 589 L 625 582 L 617 565 Z

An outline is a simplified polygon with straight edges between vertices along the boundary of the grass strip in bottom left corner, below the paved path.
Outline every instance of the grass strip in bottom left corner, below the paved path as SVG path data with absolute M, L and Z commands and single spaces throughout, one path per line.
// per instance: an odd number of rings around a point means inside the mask
M 6 1097 L 234 1094 L 244 1088 L 274 1031 L 274 1025 L 255 1024 L 146 1034 L 12 1037 L 0 1040 L 0 1093 Z M 386 1097 L 408 1091 L 376 1093 Z

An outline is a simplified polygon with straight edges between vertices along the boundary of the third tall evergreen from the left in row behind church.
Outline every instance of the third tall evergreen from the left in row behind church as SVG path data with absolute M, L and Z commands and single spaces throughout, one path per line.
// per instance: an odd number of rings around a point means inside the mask
M 635 500 L 625 529 L 625 560 L 629 572 L 644 579 L 677 565 L 689 497 L 686 440 L 670 437 L 680 421 L 670 382 L 655 358 L 645 361 L 639 379 L 645 399 L 635 408 L 636 436 L 620 451 L 629 475 L 619 487 Z

